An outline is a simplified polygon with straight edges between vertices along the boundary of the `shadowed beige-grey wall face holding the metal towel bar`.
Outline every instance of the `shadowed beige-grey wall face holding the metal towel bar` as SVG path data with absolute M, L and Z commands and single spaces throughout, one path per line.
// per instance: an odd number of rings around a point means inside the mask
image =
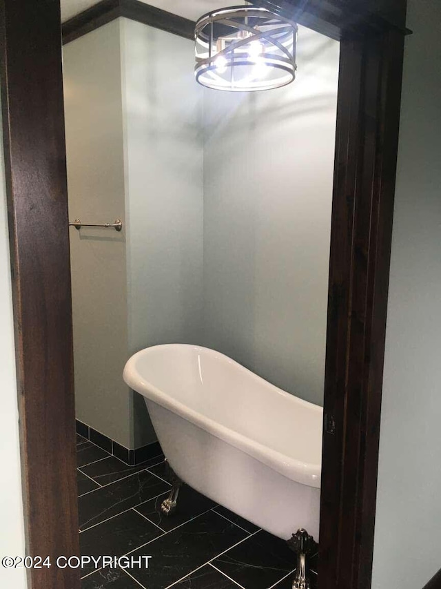
M 125 224 L 119 21 L 63 47 L 70 220 Z M 132 446 L 126 229 L 70 228 L 76 417 Z

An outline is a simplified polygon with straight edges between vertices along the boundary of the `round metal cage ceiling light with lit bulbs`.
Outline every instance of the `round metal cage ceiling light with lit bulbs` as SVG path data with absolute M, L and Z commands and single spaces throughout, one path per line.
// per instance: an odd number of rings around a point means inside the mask
M 296 77 L 297 25 L 266 8 L 230 6 L 196 23 L 195 76 L 216 90 L 250 92 Z

